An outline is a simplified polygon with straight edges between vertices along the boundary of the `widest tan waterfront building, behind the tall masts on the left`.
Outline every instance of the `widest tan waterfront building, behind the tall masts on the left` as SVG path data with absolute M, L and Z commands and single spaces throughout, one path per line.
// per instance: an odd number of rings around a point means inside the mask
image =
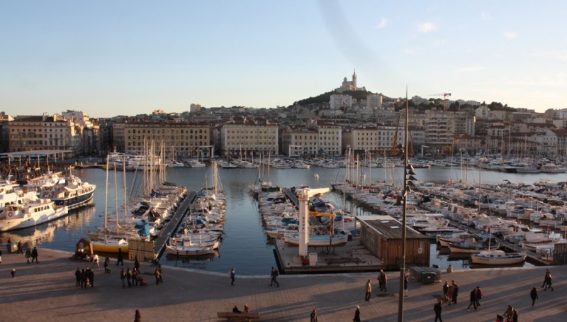
M 210 126 L 189 122 L 124 123 L 125 152 L 142 154 L 144 141 L 164 144 L 170 157 L 210 157 Z

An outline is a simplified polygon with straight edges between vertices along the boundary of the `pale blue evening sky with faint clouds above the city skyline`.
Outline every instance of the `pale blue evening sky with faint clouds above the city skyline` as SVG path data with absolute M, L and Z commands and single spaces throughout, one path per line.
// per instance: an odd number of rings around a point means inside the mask
M 0 111 L 274 108 L 388 97 L 565 109 L 567 1 L 0 0 Z

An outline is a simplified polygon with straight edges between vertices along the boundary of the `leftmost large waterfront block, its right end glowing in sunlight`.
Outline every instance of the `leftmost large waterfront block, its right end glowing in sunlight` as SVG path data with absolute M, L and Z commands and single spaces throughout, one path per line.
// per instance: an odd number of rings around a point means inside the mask
M 74 121 L 54 114 L 19 116 L 9 123 L 10 152 L 72 150 L 81 152 L 82 138 Z

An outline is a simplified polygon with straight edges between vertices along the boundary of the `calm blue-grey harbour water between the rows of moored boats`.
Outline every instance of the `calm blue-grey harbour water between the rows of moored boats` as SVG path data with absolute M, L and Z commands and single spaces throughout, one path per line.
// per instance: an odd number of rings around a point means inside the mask
M 458 167 L 432 167 L 431 169 L 416 169 L 415 176 L 421 181 L 444 182 L 447 179 L 454 181 L 463 179 L 471 183 L 500 183 L 504 180 L 510 182 L 533 183 L 539 179 L 550 179 L 560 182 L 567 181 L 567 174 L 507 174 L 503 172 L 478 172 L 478 170 L 461 170 Z M 96 184 L 94 205 L 86 209 L 74 211 L 70 216 L 52 223 L 46 223 L 35 228 L 28 228 L 12 233 L 2 233 L 5 241 L 8 238 L 38 240 L 41 247 L 57 250 L 74 251 L 75 244 L 80 238 L 86 237 L 86 231 L 96 231 L 104 221 L 104 182 L 105 172 L 99 169 L 75 170 L 83 181 Z M 175 261 L 162 257 L 165 265 L 191 267 L 213 272 L 228 272 L 230 267 L 236 267 L 238 274 L 269 274 L 271 266 L 275 266 L 273 246 L 267 242 L 262 230 L 257 202 L 249 195 L 248 186 L 256 182 L 259 170 L 254 169 L 219 169 L 220 180 L 227 196 L 227 211 L 225 223 L 225 239 L 219 249 L 219 255 L 202 260 Z M 265 174 L 267 176 L 267 174 Z M 201 169 L 178 168 L 167 170 L 167 180 L 175 182 L 190 190 L 201 189 L 211 185 L 212 175 L 210 167 Z M 287 169 L 270 171 L 272 182 L 280 187 L 298 187 L 301 184 L 310 187 L 330 187 L 330 182 L 342 181 L 345 177 L 344 169 L 326 169 L 312 167 L 311 169 Z M 384 171 L 372 169 L 366 171 L 364 179 L 369 181 L 384 180 L 399 184 L 403 178 L 401 168 Z M 116 178 L 118 196 L 115 197 L 114 173 L 108 174 L 108 216 L 116 216 L 115 199 L 118 207 L 123 205 L 123 174 L 118 172 Z M 126 172 L 126 186 L 128 191 L 137 189 L 141 184 L 141 173 Z M 357 209 L 347 201 L 343 205 L 342 196 L 335 193 L 327 194 L 335 206 L 345 207 L 359 215 L 369 214 L 367 211 Z M 123 210 L 120 212 L 123 216 Z M 455 268 L 467 268 L 467 262 L 461 259 L 448 258 L 448 255 L 439 254 L 435 245 L 431 249 L 431 265 L 447 267 L 449 263 Z

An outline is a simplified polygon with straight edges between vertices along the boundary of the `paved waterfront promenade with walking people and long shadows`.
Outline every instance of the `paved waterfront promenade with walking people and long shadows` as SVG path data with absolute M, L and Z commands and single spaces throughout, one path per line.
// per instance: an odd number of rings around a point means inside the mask
M 4 246 L 4 245 L 2 245 Z M 5 246 L 4 246 L 5 247 Z M 120 268 L 111 261 L 111 274 L 94 268 L 94 288 L 75 286 L 74 271 L 91 263 L 69 260 L 71 252 L 38 248 L 39 264 L 26 264 L 23 255 L 6 254 L 0 264 L 0 321 L 133 321 L 136 309 L 142 321 L 220 321 L 218 311 L 248 304 L 261 321 L 309 321 L 317 309 L 319 321 L 352 321 L 360 305 L 363 321 L 397 321 L 398 272 L 388 272 L 388 293 L 378 290 L 374 273 L 288 275 L 278 278 L 280 287 L 269 287 L 269 271 L 245 276 L 236 268 L 235 286 L 227 274 L 163 267 L 164 283 L 156 285 L 154 265 L 142 263 L 147 287 L 123 289 Z M 103 259 L 102 259 L 103 260 Z M 124 267 L 133 262 L 124 261 Z M 10 271 L 16 269 L 16 277 Z M 520 321 L 567 321 L 566 267 L 549 267 L 554 292 L 540 289 L 546 267 L 514 267 L 443 273 L 443 281 L 459 284 L 458 304 L 444 306 L 444 321 L 494 321 L 508 304 L 519 311 Z M 371 301 L 364 301 L 364 284 L 371 279 Z M 473 287 L 483 290 L 482 306 L 466 311 Z M 529 298 L 538 287 L 534 307 Z M 409 283 L 404 321 L 434 321 L 433 305 L 442 284 Z M 381 296 L 376 296 L 379 294 Z

